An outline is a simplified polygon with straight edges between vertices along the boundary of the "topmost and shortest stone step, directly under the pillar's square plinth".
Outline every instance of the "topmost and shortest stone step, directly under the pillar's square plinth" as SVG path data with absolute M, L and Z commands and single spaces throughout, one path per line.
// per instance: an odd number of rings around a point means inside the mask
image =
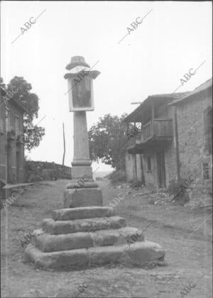
M 52 217 L 55 221 L 70 221 L 72 219 L 90 219 L 94 217 L 114 216 L 114 211 L 109 207 L 79 207 L 54 210 Z

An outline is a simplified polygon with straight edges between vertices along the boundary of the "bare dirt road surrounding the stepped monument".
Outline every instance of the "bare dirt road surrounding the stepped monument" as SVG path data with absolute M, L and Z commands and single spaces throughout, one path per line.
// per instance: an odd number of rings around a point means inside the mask
M 1 297 L 74 297 L 79 285 L 90 282 L 80 297 L 178 298 L 184 287 L 198 281 L 187 297 L 212 298 L 212 209 L 151 205 L 147 196 L 136 196 L 140 189 L 117 189 L 107 181 L 99 182 L 104 206 L 119 192 L 125 193 L 125 199 L 115 207 L 116 214 L 142 230 L 153 222 L 144 235 L 165 248 L 168 265 L 47 272 L 26 263 L 21 247 L 24 234 L 40 228 L 53 209 L 62 208 L 67 182 L 35 185 L 8 211 L 1 210 Z

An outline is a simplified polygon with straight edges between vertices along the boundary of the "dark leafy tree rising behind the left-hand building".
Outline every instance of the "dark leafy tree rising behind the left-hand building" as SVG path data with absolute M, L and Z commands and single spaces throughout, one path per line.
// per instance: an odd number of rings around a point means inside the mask
M 31 93 L 32 86 L 23 77 L 13 77 L 7 86 L 1 78 L 1 87 L 6 94 L 12 94 L 11 99 L 20 103 L 27 111 L 23 114 L 23 140 L 25 148 L 31 151 L 32 148 L 38 147 L 45 135 L 45 128 L 33 125 L 33 120 L 38 118 L 38 96 Z

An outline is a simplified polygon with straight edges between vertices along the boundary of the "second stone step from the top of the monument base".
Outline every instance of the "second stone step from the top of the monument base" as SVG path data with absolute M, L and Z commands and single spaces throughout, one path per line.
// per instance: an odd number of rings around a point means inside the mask
M 126 220 L 119 216 L 74 219 L 72 221 L 44 219 L 42 223 L 43 231 L 53 235 L 123 228 L 124 226 L 126 226 Z

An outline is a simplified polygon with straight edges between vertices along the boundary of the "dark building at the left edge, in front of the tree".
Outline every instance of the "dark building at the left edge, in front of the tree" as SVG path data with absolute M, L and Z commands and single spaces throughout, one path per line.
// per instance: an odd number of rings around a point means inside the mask
M 0 179 L 6 183 L 24 182 L 23 114 L 26 110 L 17 101 L 0 101 Z

